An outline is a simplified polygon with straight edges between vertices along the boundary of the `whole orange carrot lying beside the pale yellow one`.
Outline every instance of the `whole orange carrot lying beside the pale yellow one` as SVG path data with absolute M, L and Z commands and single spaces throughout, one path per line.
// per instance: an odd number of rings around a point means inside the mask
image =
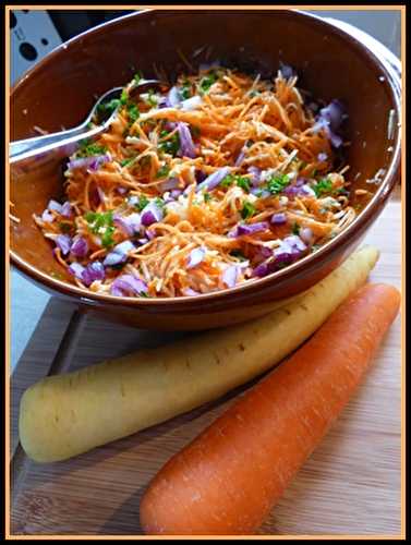
M 400 303 L 367 284 L 177 453 L 141 502 L 147 534 L 254 534 L 341 412 Z

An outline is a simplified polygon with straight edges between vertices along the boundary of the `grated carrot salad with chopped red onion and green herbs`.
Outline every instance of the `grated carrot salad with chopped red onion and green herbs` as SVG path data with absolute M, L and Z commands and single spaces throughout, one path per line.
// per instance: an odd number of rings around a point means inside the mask
M 341 105 L 306 104 L 297 80 L 214 66 L 134 99 L 136 76 L 107 106 L 110 129 L 70 158 L 67 202 L 34 216 L 73 281 L 113 295 L 208 293 L 344 229 L 356 213 Z

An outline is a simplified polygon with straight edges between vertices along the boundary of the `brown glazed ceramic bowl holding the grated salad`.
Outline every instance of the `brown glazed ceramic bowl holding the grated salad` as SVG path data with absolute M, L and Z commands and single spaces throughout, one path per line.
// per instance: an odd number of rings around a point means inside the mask
M 38 125 L 55 132 L 85 119 L 95 98 L 124 85 L 136 70 L 156 69 L 169 77 L 220 60 L 263 76 L 279 61 L 297 69 L 299 86 L 315 97 L 341 99 L 348 108 L 346 140 L 352 187 L 373 192 L 356 219 L 313 255 L 233 289 L 179 299 L 128 299 L 101 295 L 65 280 L 49 243 L 32 215 L 62 194 L 62 161 L 11 172 L 13 215 L 11 262 L 51 293 L 85 310 L 142 328 L 208 329 L 267 313 L 274 301 L 299 293 L 328 275 L 354 250 L 387 203 L 399 179 L 400 90 L 398 76 L 362 41 L 316 16 L 294 10 L 142 11 L 123 16 L 58 47 L 12 89 L 11 140 L 35 135 Z M 390 113 L 391 112 L 391 113 Z M 388 120 L 394 114 L 394 133 Z M 366 183 L 384 169 L 380 183 Z M 59 280 L 56 278 L 60 275 Z

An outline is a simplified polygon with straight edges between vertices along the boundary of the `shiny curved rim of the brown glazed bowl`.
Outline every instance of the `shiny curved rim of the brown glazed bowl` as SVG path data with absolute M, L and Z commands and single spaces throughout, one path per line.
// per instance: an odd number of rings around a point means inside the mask
M 181 11 L 182 12 L 191 11 L 193 13 L 201 12 L 201 10 L 190 10 L 190 9 Z M 223 10 L 218 10 L 218 11 L 223 11 Z M 241 9 L 235 11 L 241 11 Z M 282 13 L 282 15 L 294 16 L 297 19 L 300 19 L 301 21 L 304 21 L 307 24 L 312 24 L 319 28 L 323 27 L 324 31 L 331 31 L 335 35 L 338 35 L 341 39 L 343 39 L 347 43 L 349 47 L 356 50 L 360 53 L 360 56 L 367 58 L 368 61 L 371 61 L 371 63 L 374 64 L 374 66 L 380 71 L 382 76 L 385 77 L 382 84 L 384 84 L 384 86 L 386 87 L 386 89 L 388 90 L 389 95 L 392 98 L 392 106 L 394 106 L 392 110 L 395 111 L 395 114 L 398 120 L 397 124 L 398 130 L 396 131 L 392 137 L 394 150 L 391 154 L 389 166 L 384 174 L 384 178 L 379 182 L 378 189 L 373 195 L 373 197 L 346 229 L 343 229 L 340 233 L 338 233 L 334 239 L 326 242 L 315 253 L 302 257 L 298 262 L 285 267 L 283 269 L 271 272 L 263 278 L 253 278 L 251 280 L 247 280 L 246 282 L 234 286 L 233 288 L 226 288 L 210 293 L 201 293 L 198 295 L 181 295 L 174 298 L 166 298 L 166 296 L 126 298 L 126 296 L 118 296 L 106 293 L 96 293 L 86 289 L 82 289 L 76 284 L 71 284 L 67 281 L 62 281 L 51 277 L 50 275 L 47 275 L 46 272 L 37 269 L 35 266 L 31 265 L 25 259 L 20 257 L 19 254 L 15 253 L 13 250 L 10 250 L 11 264 L 14 265 L 17 270 L 27 276 L 31 280 L 39 283 L 40 286 L 44 286 L 49 290 L 57 291 L 65 296 L 80 298 L 82 302 L 85 302 L 87 304 L 106 303 L 108 305 L 114 305 L 114 306 L 149 307 L 149 306 L 181 306 L 194 302 L 220 303 L 228 296 L 239 294 L 240 292 L 242 294 L 249 294 L 251 291 L 255 289 L 258 289 L 261 291 L 273 283 L 286 279 L 290 275 L 293 274 L 298 275 L 298 272 L 301 272 L 306 266 L 313 265 L 315 262 L 318 262 L 322 258 L 326 261 L 327 256 L 333 254 L 334 251 L 337 250 L 338 245 L 340 244 L 343 245 L 354 232 L 361 230 L 361 226 L 367 225 L 372 220 L 373 215 L 375 213 L 378 214 L 378 209 L 379 210 L 383 209 L 385 203 L 387 202 L 388 196 L 390 195 L 399 178 L 400 159 L 401 159 L 401 131 L 400 131 L 401 96 L 399 90 L 398 76 L 396 77 L 396 74 L 394 74 L 392 69 L 389 68 L 388 62 L 385 62 L 385 60 L 378 58 L 364 43 L 360 41 L 360 39 L 358 39 L 354 35 L 350 34 L 346 29 L 342 29 L 341 27 L 337 26 L 337 24 L 334 24 L 333 22 L 327 21 L 318 15 L 314 15 L 312 13 L 307 13 L 302 10 L 275 9 L 273 11 L 276 11 L 277 13 L 280 12 Z M 160 12 L 158 12 L 155 9 L 144 9 L 136 12 L 126 13 L 124 15 L 116 17 L 114 20 L 101 23 L 100 25 L 97 25 L 93 28 L 89 28 L 72 37 L 68 41 L 61 44 L 52 51 L 50 51 L 40 62 L 38 62 L 25 74 L 23 74 L 23 76 L 20 77 L 17 82 L 15 82 L 15 84 L 12 86 L 10 97 L 11 98 L 13 97 L 13 94 L 19 90 L 20 86 L 28 77 L 33 77 L 34 75 L 36 75 L 37 71 L 41 70 L 44 65 L 47 65 L 49 62 L 51 62 L 57 55 L 67 50 L 71 45 L 80 41 L 85 36 L 104 32 L 104 29 L 107 26 L 121 25 L 125 20 L 129 19 L 134 19 L 134 17 L 143 19 L 144 16 L 147 15 L 149 16 L 153 14 L 164 13 L 164 12 L 167 12 L 167 10 L 164 11 L 161 10 Z M 246 13 L 266 14 L 266 11 L 263 12 L 262 10 L 255 9 L 255 10 L 246 10 Z

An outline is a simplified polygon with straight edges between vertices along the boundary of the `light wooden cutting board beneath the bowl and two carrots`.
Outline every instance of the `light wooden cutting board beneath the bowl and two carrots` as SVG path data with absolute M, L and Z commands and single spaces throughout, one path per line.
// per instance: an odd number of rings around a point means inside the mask
M 371 280 L 401 283 L 401 206 L 395 195 L 366 240 L 382 256 Z M 138 535 L 138 504 L 161 465 L 251 384 L 169 422 L 65 462 L 38 464 L 19 445 L 22 392 L 76 370 L 184 334 L 112 325 L 51 299 L 12 376 L 14 534 Z M 327 437 L 273 509 L 262 534 L 401 532 L 401 330 L 398 317 L 374 365 Z

